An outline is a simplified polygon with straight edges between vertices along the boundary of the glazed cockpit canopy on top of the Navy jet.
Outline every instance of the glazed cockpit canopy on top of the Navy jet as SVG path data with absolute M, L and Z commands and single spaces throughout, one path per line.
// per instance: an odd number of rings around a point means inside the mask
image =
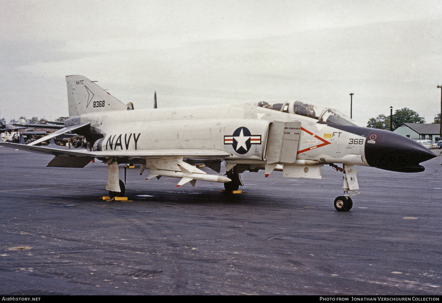
M 307 116 L 316 120 L 338 125 L 360 126 L 355 121 L 333 108 L 328 108 L 321 104 L 302 101 L 259 101 L 258 106 L 270 108 L 278 112 L 288 112 L 301 116 Z

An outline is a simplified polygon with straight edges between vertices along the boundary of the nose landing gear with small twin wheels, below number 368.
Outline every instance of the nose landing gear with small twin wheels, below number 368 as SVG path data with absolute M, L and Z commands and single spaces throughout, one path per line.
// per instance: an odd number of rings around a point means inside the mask
M 356 178 L 357 171 L 354 169 L 354 165 L 343 165 L 343 168 L 339 168 L 336 165 L 331 165 L 333 168 L 335 168 L 337 171 L 343 172 L 343 185 L 342 189 L 344 191 L 343 196 L 339 196 L 335 198 L 335 209 L 337 211 L 349 211 L 351 207 L 353 206 L 353 201 L 351 200 L 350 196 L 348 194 L 349 191 L 353 191 L 355 194 L 353 195 L 359 195 L 357 191 L 354 191 L 355 189 L 359 189 L 358 186 L 358 179 Z M 350 183 L 347 178 L 350 178 Z

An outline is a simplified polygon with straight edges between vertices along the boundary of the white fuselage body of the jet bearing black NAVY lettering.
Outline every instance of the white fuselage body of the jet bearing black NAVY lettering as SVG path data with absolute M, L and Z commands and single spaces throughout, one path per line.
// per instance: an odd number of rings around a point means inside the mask
M 252 105 L 109 111 L 81 115 L 80 121 L 90 122 L 104 135 L 94 150 L 213 149 L 230 153 L 228 160 L 242 161 L 265 160 L 271 122 L 300 121 L 299 145 L 293 150 L 297 159 L 367 166 L 365 137 L 307 116 Z M 239 127 L 246 127 L 248 137 L 255 138 L 246 153 L 238 153 L 228 144 L 228 136 Z

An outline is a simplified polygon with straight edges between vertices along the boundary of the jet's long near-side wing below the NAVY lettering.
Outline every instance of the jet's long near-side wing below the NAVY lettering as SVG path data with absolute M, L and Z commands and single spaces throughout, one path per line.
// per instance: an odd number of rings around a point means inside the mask
M 47 137 L 44 137 L 47 140 Z M 35 142 L 35 141 L 34 141 Z M 33 143 L 34 143 L 33 142 Z M 30 146 L 18 143 L 0 142 L 0 146 L 15 148 L 17 150 L 26 150 L 33 153 L 46 153 L 55 156 L 74 156 L 74 157 L 127 157 L 127 158 L 159 158 L 159 157 L 185 157 L 185 158 L 225 158 L 229 153 L 222 150 L 202 150 L 202 149 L 176 149 L 176 150 L 105 150 L 88 151 L 59 149 L 45 146 Z

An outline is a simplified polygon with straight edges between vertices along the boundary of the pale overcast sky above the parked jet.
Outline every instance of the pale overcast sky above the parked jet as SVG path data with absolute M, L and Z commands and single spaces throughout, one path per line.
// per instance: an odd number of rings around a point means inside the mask
M 110 3 L 109 3 L 110 2 Z M 297 99 L 366 125 L 440 112 L 441 1 L 0 1 L 0 110 L 68 115 L 66 75 L 151 108 Z

